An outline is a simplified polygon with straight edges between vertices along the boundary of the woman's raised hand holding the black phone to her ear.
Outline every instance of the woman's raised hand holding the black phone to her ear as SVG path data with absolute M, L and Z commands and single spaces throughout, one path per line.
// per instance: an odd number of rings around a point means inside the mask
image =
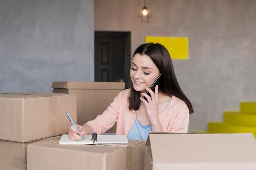
M 157 108 L 158 108 L 158 85 L 155 86 L 155 93 L 150 89 L 146 88 L 146 91 L 150 93 L 151 97 L 149 95 L 146 95 L 146 93 L 141 93 L 141 95 L 145 96 L 148 102 L 140 97 L 139 99 L 145 104 L 146 111 L 148 114 L 148 119 L 150 122 L 154 122 L 158 119 L 157 116 Z

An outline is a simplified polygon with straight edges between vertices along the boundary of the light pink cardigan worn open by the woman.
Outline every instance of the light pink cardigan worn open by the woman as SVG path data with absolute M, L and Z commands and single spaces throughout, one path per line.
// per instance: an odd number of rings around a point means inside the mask
M 136 118 L 135 110 L 129 110 L 129 96 L 130 89 L 121 91 L 101 115 L 86 124 L 100 135 L 117 122 L 116 134 L 127 136 Z M 188 132 L 189 109 L 183 100 L 173 96 L 167 108 L 159 113 L 158 117 L 164 132 Z

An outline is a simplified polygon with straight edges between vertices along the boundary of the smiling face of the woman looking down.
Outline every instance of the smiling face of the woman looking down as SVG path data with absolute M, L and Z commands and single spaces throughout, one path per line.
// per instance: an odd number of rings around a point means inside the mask
M 159 75 L 155 63 L 147 55 L 135 54 L 130 69 L 130 78 L 135 91 L 146 92 Z

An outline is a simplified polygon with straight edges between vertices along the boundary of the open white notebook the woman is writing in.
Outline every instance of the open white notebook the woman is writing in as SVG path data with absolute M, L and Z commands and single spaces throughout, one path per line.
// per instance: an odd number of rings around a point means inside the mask
M 73 141 L 70 140 L 68 135 L 62 135 L 58 141 L 59 144 L 77 144 L 77 145 L 88 145 L 88 144 L 121 144 L 128 143 L 126 135 L 92 135 L 83 136 L 83 140 Z

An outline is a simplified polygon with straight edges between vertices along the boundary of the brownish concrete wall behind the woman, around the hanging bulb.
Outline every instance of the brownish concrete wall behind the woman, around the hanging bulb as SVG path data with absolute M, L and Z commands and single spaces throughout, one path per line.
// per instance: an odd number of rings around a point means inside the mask
M 189 132 L 222 121 L 224 110 L 256 100 L 256 0 L 147 0 L 153 18 L 139 22 L 143 0 L 95 0 L 97 31 L 131 31 L 132 53 L 145 36 L 189 37 L 189 60 L 173 60 L 194 106 Z

